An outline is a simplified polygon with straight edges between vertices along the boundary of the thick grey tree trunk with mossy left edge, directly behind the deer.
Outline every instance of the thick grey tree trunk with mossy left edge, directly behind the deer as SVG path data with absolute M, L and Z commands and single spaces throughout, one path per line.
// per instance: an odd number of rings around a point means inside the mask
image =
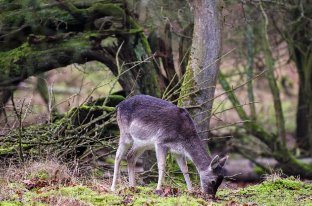
M 182 98 L 178 105 L 188 108 L 202 139 L 207 138 L 205 131 L 209 128 L 208 117 L 220 65 L 216 60 L 222 52 L 222 4 L 223 0 L 195 0 L 192 4 L 195 15 L 193 42 L 180 97 L 188 92 L 195 93 Z

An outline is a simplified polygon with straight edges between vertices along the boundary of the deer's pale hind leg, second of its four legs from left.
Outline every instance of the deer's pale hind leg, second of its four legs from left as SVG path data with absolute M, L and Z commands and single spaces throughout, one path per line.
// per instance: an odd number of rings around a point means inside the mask
M 127 154 L 130 187 L 135 188 L 135 164 L 138 160 L 138 157 L 143 153 L 144 150 L 144 148 L 138 148 L 136 145 L 133 145 Z

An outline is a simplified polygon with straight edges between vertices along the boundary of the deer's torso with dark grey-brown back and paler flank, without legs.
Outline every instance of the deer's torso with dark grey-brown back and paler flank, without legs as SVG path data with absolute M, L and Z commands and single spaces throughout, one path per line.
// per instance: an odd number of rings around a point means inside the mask
M 119 103 L 116 117 L 121 133 L 140 140 L 153 139 L 170 148 L 184 148 L 192 139 L 199 139 L 185 108 L 148 95 L 136 95 Z

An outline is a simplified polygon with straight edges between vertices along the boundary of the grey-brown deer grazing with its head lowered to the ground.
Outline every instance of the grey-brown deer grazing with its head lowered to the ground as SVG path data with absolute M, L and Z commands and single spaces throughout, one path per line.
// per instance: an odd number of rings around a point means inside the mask
M 116 107 L 116 119 L 120 129 L 116 151 L 111 191 L 117 187 L 121 159 L 127 154 L 130 187 L 135 184 L 135 164 L 145 150 L 155 150 L 158 165 L 157 190 L 161 190 L 167 152 L 170 151 L 183 175 L 189 191 L 193 190 L 188 174 L 186 157 L 196 166 L 202 190 L 215 195 L 224 177 L 223 166 L 228 156 L 220 159 L 209 156 L 195 124 L 183 107 L 149 95 L 135 95 L 120 102 Z

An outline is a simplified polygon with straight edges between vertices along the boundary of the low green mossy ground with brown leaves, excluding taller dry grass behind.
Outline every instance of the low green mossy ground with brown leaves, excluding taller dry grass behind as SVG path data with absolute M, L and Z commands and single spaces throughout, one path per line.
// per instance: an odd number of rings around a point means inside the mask
M 294 178 L 278 177 L 246 188 L 220 189 L 214 199 L 199 188 L 192 193 L 171 186 L 163 188 L 163 195 L 156 195 L 154 186 L 136 190 L 118 187 L 112 193 L 108 181 L 79 185 L 56 183 L 31 190 L 12 184 L 15 194 L 0 197 L 0 206 L 312 206 L 312 184 Z

